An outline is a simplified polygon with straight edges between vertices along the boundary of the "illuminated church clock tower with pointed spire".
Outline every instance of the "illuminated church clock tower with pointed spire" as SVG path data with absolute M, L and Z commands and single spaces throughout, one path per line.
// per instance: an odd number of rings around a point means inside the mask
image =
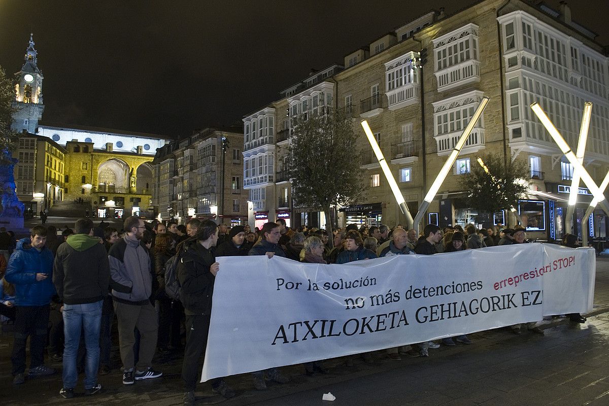
M 19 110 L 13 114 L 13 130 L 27 131 L 35 134 L 38 131 L 38 120 L 42 118 L 44 104 L 42 100 L 42 72 L 38 69 L 38 55 L 30 34 L 30 43 L 26 50 L 25 62 L 21 71 L 15 74 L 15 101 L 13 107 Z

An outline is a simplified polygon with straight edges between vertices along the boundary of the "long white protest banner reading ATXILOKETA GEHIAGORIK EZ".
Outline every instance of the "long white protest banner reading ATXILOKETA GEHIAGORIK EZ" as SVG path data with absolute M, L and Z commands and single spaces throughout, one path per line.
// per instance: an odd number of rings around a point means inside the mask
M 519 244 L 345 265 L 219 257 L 202 382 L 592 309 L 592 248 Z

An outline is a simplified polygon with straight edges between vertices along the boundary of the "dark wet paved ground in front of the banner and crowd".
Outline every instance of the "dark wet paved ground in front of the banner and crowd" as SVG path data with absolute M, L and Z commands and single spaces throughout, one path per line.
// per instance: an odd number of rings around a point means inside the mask
M 231 376 L 227 382 L 237 391 L 225 400 L 200 383 L 198 405 L 609 405 L 609 255 L 597 260 L 593 312 L 585 324 L 572 325 L 564 318 L 544 322 L 543 336 L 513 335 L 495 329 L 469 335 L 474 345 L 442 346 L 430 350 L 428 359 L 387 359 L 374 354 L 373 364 L 356 360 L 328 360 L 330 373 L 305 376 L 301 365 L 282 371 L 290 377 L 284 385 L 269 382 L 256 391 L 249 374 Z M 61 376 L 27 380 L 12 385 L 10 350 L 12 334 L 0 334 L 0 393 L 2 405 L 147 405 L 181 404 L 181 354 L 155 358 L 164 373 L 160 379 L 121 383 L 118 348 L 113 347 L 114 369 L 100 376 L 102 392 L 85 397 L 82 386 L 74 399 L 58 391 Z M 61 363 L 50 363 L 60 369 Z M 81 379 L 82 382 L 82 379 Z M 80 383 L 82 385 L 82 383 Z M 331 392 L 336 401 L 322 401 Z M 78 394 L 80 393 L 80 394 Z

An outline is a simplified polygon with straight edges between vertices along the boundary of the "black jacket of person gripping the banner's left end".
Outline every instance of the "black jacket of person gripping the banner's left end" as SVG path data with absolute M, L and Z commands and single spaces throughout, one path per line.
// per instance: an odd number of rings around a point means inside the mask
M 200 243 L 194 243 L 182 254 L 177 275 L 180 282 L 180 301 L 186 315 L 209 315 L 211 296 L 216 277 L 209 267 L 216 257 Z

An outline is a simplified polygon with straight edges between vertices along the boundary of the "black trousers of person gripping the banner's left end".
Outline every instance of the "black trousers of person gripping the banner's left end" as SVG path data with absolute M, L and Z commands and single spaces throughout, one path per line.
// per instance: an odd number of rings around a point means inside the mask
M 209 332 L 210 315 L 186 315 L 186 348 L 184 349 L 184 363 L 182 365 L 182 379 L 184 390 L 194 391 L 201 376 L 199 359 L 205 358 L 207 335 Z M 222 382 L 222 378 L 209 380 L 212 387 Z

